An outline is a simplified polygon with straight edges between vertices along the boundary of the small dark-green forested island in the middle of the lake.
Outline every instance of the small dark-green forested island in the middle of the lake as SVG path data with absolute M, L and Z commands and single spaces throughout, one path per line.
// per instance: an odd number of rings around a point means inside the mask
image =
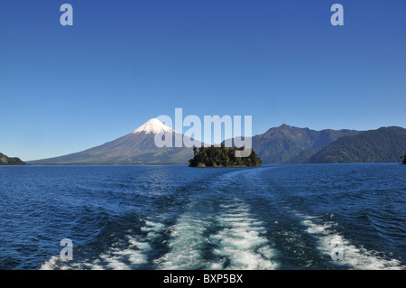
M 189 167 L 255 167 L 261 166 L 263 160 L 257 156 L 254 149 L 248 157 L 235 157 L 236 150 L 244 147 L 193 147 L 193 159 L 189 160 Z

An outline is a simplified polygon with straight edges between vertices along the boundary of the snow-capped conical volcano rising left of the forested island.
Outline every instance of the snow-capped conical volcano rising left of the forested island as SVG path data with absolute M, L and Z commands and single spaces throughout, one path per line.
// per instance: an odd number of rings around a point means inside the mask
M 156 134 L 167 131 L 175 139 L 178 132 L 152 118 L 132 133 L 88 150 L 68 155 L 30 161 L 33 165 L 143 165 L 188 164 L 193 157 L 191 148 L 158 148 Z M 174 146 L 174 145 L 173 145 Z

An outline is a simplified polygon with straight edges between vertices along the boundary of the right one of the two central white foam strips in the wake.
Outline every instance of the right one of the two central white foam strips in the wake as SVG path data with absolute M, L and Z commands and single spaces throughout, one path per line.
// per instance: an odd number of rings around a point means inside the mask
M 219 258 L 209 265 L 209 269 L 276 269 L 279 265 L 272 261 L 274 251 L 262 236 L 263 224 L 250 218 L 249 209 L 243 203 L 222 205 L 226 213 L 217 217 L 225 228 L 210 240 L 217 245 L 213 251 Z

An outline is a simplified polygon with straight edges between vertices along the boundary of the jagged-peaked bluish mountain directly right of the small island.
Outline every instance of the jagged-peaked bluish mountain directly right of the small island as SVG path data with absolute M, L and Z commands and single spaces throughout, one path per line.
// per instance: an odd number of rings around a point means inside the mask
M 337 139 L 360 133 L 355 130 L 321 130 L 281 125 L 253 137 L 253 148 L 263 163 L 303 163 Z

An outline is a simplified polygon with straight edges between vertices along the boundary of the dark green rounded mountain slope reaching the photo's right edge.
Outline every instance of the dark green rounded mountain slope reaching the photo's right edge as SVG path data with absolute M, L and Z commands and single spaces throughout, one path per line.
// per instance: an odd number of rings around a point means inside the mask
M 382 127 L 339 138 L 306 163 L 399 163 L 404 153 L 406 129 Z

